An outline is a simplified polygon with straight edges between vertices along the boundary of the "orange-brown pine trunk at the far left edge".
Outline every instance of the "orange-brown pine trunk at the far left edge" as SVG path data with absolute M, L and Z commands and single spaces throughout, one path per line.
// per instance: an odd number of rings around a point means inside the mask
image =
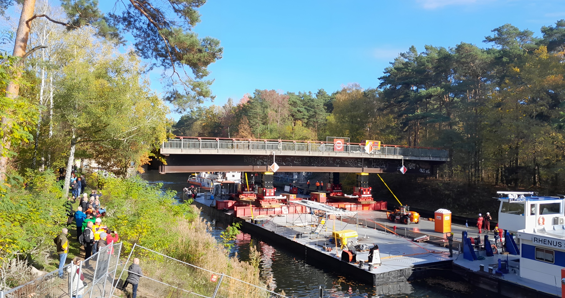
M 31 19 L 33 16 L 33 9 L 35 7 L 35 0 L 24 0 L 23 6 L 21 7 L 21 15 L 20 21 L 18 24 L 18 30 L 16 31 L 16 40 L 14 42 L 14 52 L 12 55 L 23 57 L 25 55 L 25 49 L 28 45 L 28 38 L 29 38 L 29 24 L 26 23 L 27 20 Z M 21 77 L 21 72 L 17 73 L 18 78 Z M 20 93 L 20 85 L 16 84 L 15 81 L 11 81 L 8 86 L 6 87 L 6 97 L 7 98 L 16 98 Z M 2 117 L 2 124 L 8 125 L 10 120 L 7 117 Z M 10 129 L 10 127 L 8 127 Z M 4 148 L 6 150 L 10 150 L 10 138 L 6 134 L 5 137 L 2 138 L 2 142 L 0 143 L 0 148 Z M 7 156 L 0 156 L 0 181 L 6 180 L 6 173 L 8 170 L 8 157 Z

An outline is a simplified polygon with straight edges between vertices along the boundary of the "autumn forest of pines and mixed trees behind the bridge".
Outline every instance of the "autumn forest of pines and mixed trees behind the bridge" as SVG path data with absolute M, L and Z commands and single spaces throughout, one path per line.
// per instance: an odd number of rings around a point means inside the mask
M 505 24 L 486 46 L 414 46 L 376 87 L 328 94 L 255 90 L 239 102 L 200 107 L 173 125 L 185 136 L 325 141 L 349 137 L 440 147 L 437 171 L 470 185 L 555 188 L 563 183 L 565 20 L 530 30 Z

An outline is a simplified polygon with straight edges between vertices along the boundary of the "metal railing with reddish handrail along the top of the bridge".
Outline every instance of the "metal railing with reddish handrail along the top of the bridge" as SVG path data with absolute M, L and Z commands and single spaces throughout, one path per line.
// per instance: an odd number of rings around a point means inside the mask
M 222 139 L 222 138 L 197 138 L 179 137 L 163 142 L 164 149 L 196 149 L 196 150 L 245 150 L 245 151 L 293 151 L 293 152 L 338 152 L 360 153 L 370 155 L 402 155 L 412 157 L 434 157 L 447 159 L 449 152 L 438 148 L 408 147 L 396 145 L 381 145 L 366 151 L 365 144 L 346 143 L 334 144 L 331 142 L 314 141 L 286 141 L 286 140 L 260 140 L 260 139 Z

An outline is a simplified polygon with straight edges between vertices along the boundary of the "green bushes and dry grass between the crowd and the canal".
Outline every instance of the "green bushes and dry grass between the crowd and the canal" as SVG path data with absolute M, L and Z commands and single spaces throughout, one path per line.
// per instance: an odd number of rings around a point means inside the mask
M 162 185 L 148 185 L 139 177 L 103 178 L 102 185 L 102 205 L 108 210 L 105 223 L 118 230 L 123 256 L 137 243 L 189 264 L 265 287 L 258 266 L 229 258 L 224 246 L 207 233 L 210 226 L 199 217 L 200 211 L 189 203 L 179 204 L 174 198 L 175 191 L 163 192 Z M 142 249 L 136 249 L 134 255 L 141 258 L 141 267 L 148 277 L 200 295 L 210 296 L 214 292 L 217 283 L 210 282 L 210 273 L 205 270 Z M 139 291 L 155 297 L 186 294 L 149 279 L 143 279 Z M 269 296 L 266 291 L 228 278 L 223 279 L 220 293 L 228 298 Z

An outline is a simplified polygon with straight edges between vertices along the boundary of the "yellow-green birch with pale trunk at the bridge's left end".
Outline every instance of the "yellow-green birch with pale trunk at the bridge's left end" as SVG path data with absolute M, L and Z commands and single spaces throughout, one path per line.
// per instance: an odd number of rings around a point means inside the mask
M 77 148 L 114 148 L 123 157 L 133 146 L 146 152 L 166 137 L 168 109 L 146 89 L 149 82 L 143 80 L 138 56 L 119 54 L 108 42 L 96 41 L 93 30 L 82 31 L 69 33 L 66 48 L 57 53 L 63 67 L 55 82 L 54 108 L 70 143 L 67 191 Z

